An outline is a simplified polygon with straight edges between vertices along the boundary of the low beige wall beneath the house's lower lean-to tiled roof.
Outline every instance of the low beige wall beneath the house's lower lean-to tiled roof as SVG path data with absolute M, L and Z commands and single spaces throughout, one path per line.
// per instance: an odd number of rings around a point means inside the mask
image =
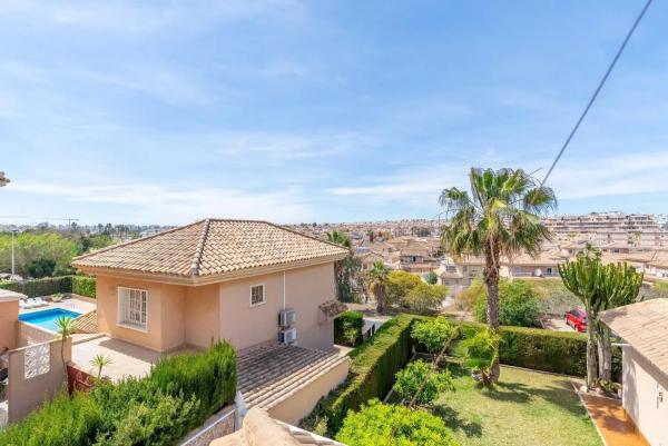
M 283 423 L 297 426 L 306 417 L 317 402 L 326 396 L 347 377 L 350 361 L 344 360 L 326 374 L 313 380 L 285 400 L 269 409 L 269 415 Z

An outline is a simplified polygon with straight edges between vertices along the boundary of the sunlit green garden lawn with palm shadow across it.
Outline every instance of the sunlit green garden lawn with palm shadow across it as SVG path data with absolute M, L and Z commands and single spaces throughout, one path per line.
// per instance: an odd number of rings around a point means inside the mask
M 462 446 L 601 446 L 568 378 L 502 367 L 494 388 L 479 388 L 451 365 L 455 392 L 433 407 Z

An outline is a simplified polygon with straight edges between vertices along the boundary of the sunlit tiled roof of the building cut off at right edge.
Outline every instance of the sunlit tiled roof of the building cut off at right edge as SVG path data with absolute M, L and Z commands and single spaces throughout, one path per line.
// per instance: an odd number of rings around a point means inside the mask
M 668 299 L 609 309 L 600 319 L 668 376 Z

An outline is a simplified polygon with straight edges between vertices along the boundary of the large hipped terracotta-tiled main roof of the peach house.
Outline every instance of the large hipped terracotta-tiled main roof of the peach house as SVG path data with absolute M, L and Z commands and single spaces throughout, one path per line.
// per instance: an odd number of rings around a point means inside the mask
M 76 257 L 72 266 L 207 277 L 345 255 L 337 245 L 266 221 L 206 219 Z

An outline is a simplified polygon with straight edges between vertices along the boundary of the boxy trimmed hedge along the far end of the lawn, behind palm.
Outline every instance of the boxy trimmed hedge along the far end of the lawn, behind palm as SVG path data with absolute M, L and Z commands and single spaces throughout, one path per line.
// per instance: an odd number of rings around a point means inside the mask
M 485 327 L 477 323 L 455 323 L 463 330 Z M 581 333 L 552 331 L 540 328 L 500 327 L 501 364 L 551 371 L 562 375 L 587 376 L 587 336 Z M 452 351 L 456 356 L 456 347 Z M 621 376 L 621 350 L 613 350 L 612 376 Z

